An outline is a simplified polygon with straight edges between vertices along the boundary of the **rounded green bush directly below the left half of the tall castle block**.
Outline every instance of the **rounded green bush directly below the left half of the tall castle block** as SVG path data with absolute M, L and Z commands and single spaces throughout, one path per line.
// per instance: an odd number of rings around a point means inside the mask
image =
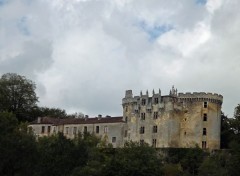
M 128 142 L 117 148 L 106 164 L 103 175 L 158 176 L 162 174 L 161 160 L 157 151 L 147 144 Z

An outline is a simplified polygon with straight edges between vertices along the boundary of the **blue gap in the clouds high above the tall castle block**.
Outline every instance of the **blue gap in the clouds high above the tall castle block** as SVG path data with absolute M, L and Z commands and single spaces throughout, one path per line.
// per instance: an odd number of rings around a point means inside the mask
M 145 22 L 141 22 L 139 26 L 149 35 L 149 40 L 153 41 L 160 35 L 173 29 L 172 26 L 161 25 L 161 26 L 148 26 Z

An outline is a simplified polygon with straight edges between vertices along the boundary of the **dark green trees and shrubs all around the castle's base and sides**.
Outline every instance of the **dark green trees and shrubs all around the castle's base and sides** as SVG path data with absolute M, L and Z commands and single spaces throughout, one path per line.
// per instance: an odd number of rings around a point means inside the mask
M 73 140 L 61 133 L 36 139 L 26 121 L 37 116 L 68 115 L 58 108 L 38 107 L 35 85 L 25 77 L 7 74 L 0 79 L 0 87 L 2 176 L 235 176 L 240 173 L 240 105 L 235 108 L 234 118 L 222 113 L 224 150 L 211 153 L 198 147 L 159 150 L 135 142 L 114 149 L 89 133 L 79 134 Z M 20 100 L 21 104 L 17 104 Z

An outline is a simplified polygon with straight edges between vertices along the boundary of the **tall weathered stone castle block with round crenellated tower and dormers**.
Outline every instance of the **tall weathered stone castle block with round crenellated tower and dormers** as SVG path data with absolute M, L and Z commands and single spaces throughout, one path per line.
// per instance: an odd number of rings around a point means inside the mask
M 223 97 L 211 93 L 153 91 L 149 96 L 132 95 L 122 100 L 123 119 L 128 131 L 124 140 L 146 142 L 158 148 L 220 148 L 221 105 Z

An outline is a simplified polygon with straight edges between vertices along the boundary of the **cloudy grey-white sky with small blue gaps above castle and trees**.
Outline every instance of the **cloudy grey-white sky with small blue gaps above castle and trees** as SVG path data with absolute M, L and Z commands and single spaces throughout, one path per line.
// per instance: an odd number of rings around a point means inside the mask
M 0 0 L 0 75 L 36 83 L 39 105 L 122 115 L 139 95 L 223 95 L 240 103 L 239 0 Z

